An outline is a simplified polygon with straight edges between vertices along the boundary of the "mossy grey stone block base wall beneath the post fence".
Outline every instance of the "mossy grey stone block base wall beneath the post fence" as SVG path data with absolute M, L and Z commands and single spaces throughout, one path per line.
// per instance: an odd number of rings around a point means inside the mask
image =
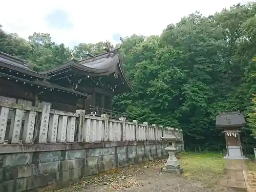
M 83 177 L 167 157 L 160 141 L 0 145 L 0 191 L 65 187 Z

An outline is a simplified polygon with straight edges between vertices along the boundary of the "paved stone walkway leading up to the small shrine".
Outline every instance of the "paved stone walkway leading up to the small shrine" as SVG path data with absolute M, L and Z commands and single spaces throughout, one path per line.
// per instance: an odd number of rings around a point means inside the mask
M 256 191 L 256 173 L 247 170 L 245 160 L 226 160 L 226 174 L 220 185 L 236 191 Z

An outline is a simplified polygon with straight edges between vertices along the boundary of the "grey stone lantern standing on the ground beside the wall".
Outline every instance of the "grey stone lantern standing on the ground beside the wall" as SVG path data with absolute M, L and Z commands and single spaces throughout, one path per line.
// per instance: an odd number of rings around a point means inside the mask
M 161 138 L 164 141 L 167 141 L 167 147 L 165 150 L 168 152 L 169 157 L 167 159 L 166 167 L 163 168 L 163 172 L 180 174 L 183 172 L 183 168 L 180 167 L 178 159 L 176 158 L 176 141 L 177 137 L 175 136 L 174 129 L 167 127 L 166 134 Z

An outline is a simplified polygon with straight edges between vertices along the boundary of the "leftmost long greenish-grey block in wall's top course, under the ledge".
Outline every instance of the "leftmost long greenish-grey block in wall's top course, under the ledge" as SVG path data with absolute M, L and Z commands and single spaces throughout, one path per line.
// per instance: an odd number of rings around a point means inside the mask
M 32 162 L 31 153 L 7 154 L 4 158 L 3 167 L 27 165 Z

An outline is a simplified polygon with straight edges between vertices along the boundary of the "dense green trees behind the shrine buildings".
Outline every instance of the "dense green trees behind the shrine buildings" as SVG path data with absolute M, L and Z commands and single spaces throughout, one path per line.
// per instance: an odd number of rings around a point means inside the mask
M 243 111 L 248 125 L 242 140 L 248 152 L 256 135 L 256 4 L 237 5 L 208 17 L 200 13 L 168 25 L 160 36 L 121 39 L 123 62 L 134 92 L 114 98 L 114 108 L 133 119 L 184 130 L 188 150 L 218 151 L 224 138 L 215 127 L 219 112 Z M 0 51 L 28 59 L 42 71 L 87 52 L 104 52 L 104 43 L 73 50 L 47 33 L 28 41 L 0 28 Z

